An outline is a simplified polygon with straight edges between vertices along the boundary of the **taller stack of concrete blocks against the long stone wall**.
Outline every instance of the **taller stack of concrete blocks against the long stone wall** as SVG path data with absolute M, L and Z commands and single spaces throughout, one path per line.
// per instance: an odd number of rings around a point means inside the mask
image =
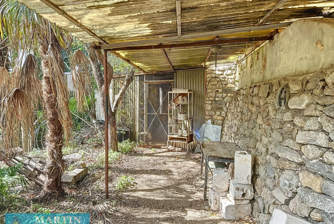
M 226 220 L 238 220 L 251 214 L 250 200 L 254 197 L 252 180 L 252 155 L 236 151 L 234 179 L 230 180 L 229 193 L 220 198 L 221 215 Z

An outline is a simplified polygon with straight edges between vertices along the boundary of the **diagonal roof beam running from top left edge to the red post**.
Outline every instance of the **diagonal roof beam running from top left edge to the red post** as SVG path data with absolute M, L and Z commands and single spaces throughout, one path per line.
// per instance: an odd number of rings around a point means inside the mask
M 108 44 L 107 41 L 105 41 L 103 38 L 101 38 L 100 36 L 98 36 L 97 34 L 95 34 L 95 32 L 93 32 L 92 30 L 90 30 L 89 28 L 87 28 L 85 25 L 81 24 L 81 22 L 79 22 L 76 19 L 74 19 L 71 15 L 69 15 L 62 8 L 60 8 L 59 6 L 57 6 L 56 4 L 54 4 L 52 1 L 50 1 L 50 0 L 40 0 L 40 1 L 43 2 L 45 5 L 47 5 L 48 7 L 50 7 L 51 9 L 53 9 L 59 15 L 63 16 L 64 18 L 66 18 L 68 21 L 70 21 L 71 23 L 73 23 L 75 26 L 77 26 L 81 30 L 83 30 L 86 33 L 88 33 L 90 36 L 92 36 L 95 39 L 97 39 L 102 44 Z

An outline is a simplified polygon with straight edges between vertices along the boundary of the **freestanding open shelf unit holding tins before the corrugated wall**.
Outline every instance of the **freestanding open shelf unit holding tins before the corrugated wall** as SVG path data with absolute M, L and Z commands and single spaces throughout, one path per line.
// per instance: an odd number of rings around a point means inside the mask
M 179 97 L 186 97 L 187 100 L 183 101 Z M 189 144 L 193 142 L 193 92 L 187 89 L 173 89 L 168 92 L 168 102 L 171 104 L 175 101 L 174 106 L 168 106 L 168 141 L 170 142 L 184 143 L 186 144 L 187 152 Z M 179 113 L 186 113 L 185 118 L 181 118 Z M 177 120 L 175 119 L 177 118 Z M 186 129 L 186 133 L 182 129 L 182 135 L 178 133 L 180 128 Z M 184 135 L 186 134 L 186 135 Z

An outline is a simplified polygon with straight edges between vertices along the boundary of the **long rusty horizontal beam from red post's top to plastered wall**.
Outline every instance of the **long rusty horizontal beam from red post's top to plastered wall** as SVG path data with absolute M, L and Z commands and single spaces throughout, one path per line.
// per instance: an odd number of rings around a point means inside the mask
M 196 47 L 196 46 L 208 46 L 217 44 L 231 44 L 231 43 L 246 43 L 249 41 L 262 41 L 262 40 L 272 40 L 272 36 L 264 37 L 251 37 L 251 38 L 235 38 L 235 39 L 222 39 L 216 41 L 198 41 L 192 43 L 180 43 L 180 44 L 161 44 L 154 46 L 133 46 L 133 47 L 118 47 L 113 49 L 105 49 L 106 51 L 120 51 L 120 50 L 150 50 L 150 49 L 161 49 L 161 48 L 179 48 L 179 47 Z

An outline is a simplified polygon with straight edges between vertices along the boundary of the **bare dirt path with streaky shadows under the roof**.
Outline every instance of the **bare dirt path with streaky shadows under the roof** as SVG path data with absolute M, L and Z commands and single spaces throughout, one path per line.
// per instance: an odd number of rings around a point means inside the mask
M 136 187 L 122 194 L 116 213 L 129 223 L 227 224 L 221 215 L 211 212 L 203 201 L 203 188 L 195 191 L 199 176 L 198 154 L 185 150 L 143 149 L 128 156 L 114 175 L 128 175 Z M 235 222 L 234 222 L 235 223 Z

